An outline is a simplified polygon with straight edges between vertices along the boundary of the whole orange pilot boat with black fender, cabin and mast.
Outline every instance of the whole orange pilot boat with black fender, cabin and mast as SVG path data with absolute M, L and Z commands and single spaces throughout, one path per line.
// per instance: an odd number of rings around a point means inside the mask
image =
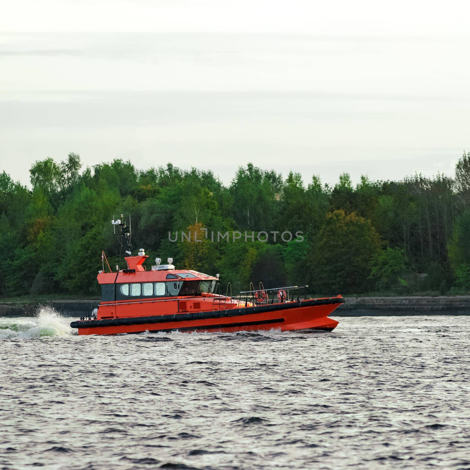
M 122 216 L 121 216 L 122 217 Z M 219 274 L 210 276 L 190 269 L 175 269 L 172 258 L 159 258 L 151 271 L 143 262 L 143 249 L 132 256 L 131 228 L 113 220 L 115 235 L 127 257 L 127 269 L 112 272 L 102 252 L 103 271 L 97 279 L 102 288 L 100 304 L 93 313 L 72 321 L 79 335 L 116 335 L 149 332 L 235 332 L 280 329 L 328 330 L 338 322 L 328 315 L 344 303 L 341 296 L 308 298 L 308 286 L 220 294 Z M 116 227 L 120 231 L 116 234 Z M 124 243 L 126 246 L 124 246 Z M 106 265 L 104 261 L 106 260 Z M 109 272 L 104 272 L 107 266 Z

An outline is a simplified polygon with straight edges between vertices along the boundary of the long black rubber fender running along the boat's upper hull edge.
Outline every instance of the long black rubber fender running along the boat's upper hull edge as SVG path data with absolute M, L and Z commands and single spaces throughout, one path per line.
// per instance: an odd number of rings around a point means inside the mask
M 174 321 L 209 320 L 216 318 L 252 315 L 253 313 L 276 312 L 298 307 L 314 307 L 318 305 L 339 305 L 345 302 L 344 298 L 333 297 L 325 299 L 300 300 L 286 304 L 257 305 L 254 307 L 230 308 L 227 310 L 212 310 L 195 313 L 174 313 L 169 315 L 149 315 L 145 317 L 110 318 L 106 320 L 72 321 L 72 328 L 101 328 L 106 326 L 145 325 L 147 323 L 170 323 Z

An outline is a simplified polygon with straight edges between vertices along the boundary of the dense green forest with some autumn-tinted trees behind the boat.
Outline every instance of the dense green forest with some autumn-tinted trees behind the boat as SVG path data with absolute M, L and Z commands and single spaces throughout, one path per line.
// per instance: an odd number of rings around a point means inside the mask
M 363 175 L 353 185 L 342 173 L 334 186 L 253 164 L 240 166 L 229 186 L 172 164 L 140 170 L 116 159 L 83 169 L 70 153 L 35 162 L 30 181 L 0 175 L 2 298 L 95 297 L 102 250 L 112 269 L 125 268 L 111 225 L 121 214 L 131 216 L 133 254 L 144 248 L 148 269 L 172 257 L 177 269 L 219 273 L 223 292 L 227 282 L 235 293 L 260 281 L 308 284 L 318 296 L 470 292 L 470 153 L 453 177 Z M 181 231 L 202 242 L 181 240 Z M 273 231 L 294 238 L 257 240 Z M 228 241 L 216 243 L 218 232 L 229 232 Z M 233 241 L 233 232 L 243 235 Z

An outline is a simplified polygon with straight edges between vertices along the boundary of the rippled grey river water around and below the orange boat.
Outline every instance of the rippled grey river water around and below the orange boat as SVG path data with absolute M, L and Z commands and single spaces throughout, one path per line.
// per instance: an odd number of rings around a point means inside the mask
M 0 319 L 0 469 L 470 469 L 470 317 L 78 337 Z

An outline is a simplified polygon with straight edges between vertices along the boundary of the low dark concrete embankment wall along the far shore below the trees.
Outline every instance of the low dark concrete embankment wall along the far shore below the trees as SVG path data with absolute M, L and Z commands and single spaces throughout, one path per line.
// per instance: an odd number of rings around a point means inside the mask
M 92 312 L 99 300 L 62 300 L 42 304 L 1 302 L 0 316 L 34 316 L 50 306 L 66 317 L 85 315 L 85 306 Z M 470 315 L 470 296 L 455 297 L 358 297 L 346 298 L 332 316 L 393 315 Z

